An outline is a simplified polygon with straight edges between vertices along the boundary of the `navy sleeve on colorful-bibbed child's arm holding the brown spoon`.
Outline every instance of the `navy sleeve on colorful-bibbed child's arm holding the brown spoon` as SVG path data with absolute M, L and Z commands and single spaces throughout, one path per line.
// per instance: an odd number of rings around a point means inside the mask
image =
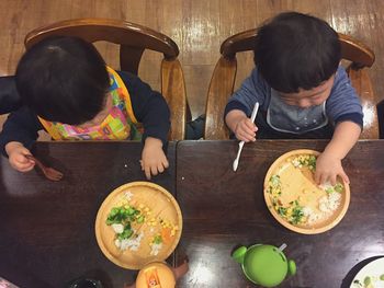
M 5 145 L 11 141 L 21 142 L 27 149 L 31 149 L 38 137 L 37 131 L 42 129 L 43 126 L 36 114 L 26 106 L 22 106 L 18 111 L 12 112 L 0 133 L 1 153 L 7 157 Z

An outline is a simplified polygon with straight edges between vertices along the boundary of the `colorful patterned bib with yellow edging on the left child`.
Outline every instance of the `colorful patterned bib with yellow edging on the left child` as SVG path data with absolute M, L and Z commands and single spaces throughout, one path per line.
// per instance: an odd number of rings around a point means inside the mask
M 131 96 L 120 76 L 106 67 L 110 74 L 109 97 L 112 97 L 112 108 L 100 124 L 81 128 L 58 122 L 48 122 L 38 117 L 44 128 L 55 140 L 140 140 L 142 133 L 133 113 Z

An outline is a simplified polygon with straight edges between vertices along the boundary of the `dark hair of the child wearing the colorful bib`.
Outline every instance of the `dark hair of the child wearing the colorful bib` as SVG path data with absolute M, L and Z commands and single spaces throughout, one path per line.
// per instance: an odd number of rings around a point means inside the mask
M 22 56 L 16 87 L 23 102 L 52 122 L 79 125 L 103 108 L 110 85 L 105 62 L 81 38 L 45 38 Z

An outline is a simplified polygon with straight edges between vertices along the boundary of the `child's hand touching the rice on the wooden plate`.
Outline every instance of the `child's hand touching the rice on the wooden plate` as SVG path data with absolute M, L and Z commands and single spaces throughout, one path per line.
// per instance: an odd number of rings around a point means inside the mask
M 331 153 L 323 152 L 316 161 L 315 182 L 318 185 L 327 182 L 336 185 L 338 175 L 349 184 L 349 178 L 341 165 L 341 159 L 335 158 Z

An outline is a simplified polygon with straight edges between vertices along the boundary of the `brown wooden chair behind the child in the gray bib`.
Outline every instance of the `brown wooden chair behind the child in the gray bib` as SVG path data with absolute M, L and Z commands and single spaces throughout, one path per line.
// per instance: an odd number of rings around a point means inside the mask
M 252 50 L 257 30 L 230 36 L 221 46 L 222 57 L 214 69 L 206 101 L 204 136 L 208 140 L 228 139 L 229 130 L 224 123 L 224 108 L 234 93 L 237 71 L 236 54 Z M 374 53 L 364 44 L 339 33 L 342 59 L 349 60 L 348 76 L 361 97 L 364 113 L 364 130 L 360 138 L 377 139 L 379 124 L 375 97 L 366 67 L 374 62 Z

